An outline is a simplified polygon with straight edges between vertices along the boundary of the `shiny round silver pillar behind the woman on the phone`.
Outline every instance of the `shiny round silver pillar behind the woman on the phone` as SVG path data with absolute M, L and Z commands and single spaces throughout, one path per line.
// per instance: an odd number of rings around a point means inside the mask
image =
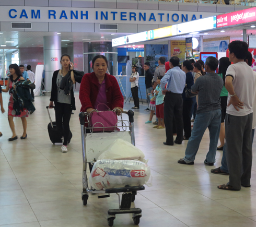
M 44 85 L 45 91 L 51 91 L 53 72 L 61 68 L 61 37 L 43 37 Z M 48 93 L 46 93 L 48 94 Z

